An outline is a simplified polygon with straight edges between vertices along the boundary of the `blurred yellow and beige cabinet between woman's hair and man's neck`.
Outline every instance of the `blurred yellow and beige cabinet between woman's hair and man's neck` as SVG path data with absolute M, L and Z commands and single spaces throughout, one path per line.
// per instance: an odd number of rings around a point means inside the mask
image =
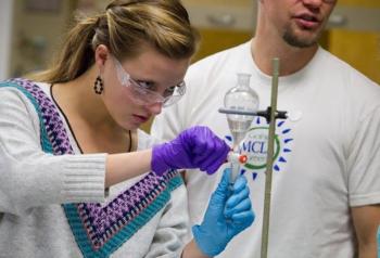
M 252 38 L 256 7 L 252 0 L 183 0 L 190 20 L 201 34 L 193 61 L 243 43 Z

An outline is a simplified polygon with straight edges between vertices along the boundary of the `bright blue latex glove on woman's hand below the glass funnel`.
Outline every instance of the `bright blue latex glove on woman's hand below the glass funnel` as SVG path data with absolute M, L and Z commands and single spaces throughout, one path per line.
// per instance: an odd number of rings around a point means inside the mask
M 229 190 L 231 170 L 225 169 L 223 178 L 212 194 L 201 225 L 192 227 L 198 247 L 207 256 L 220 254 L 232 237 L 249 228 L 255 215 L 250 190 L 244 176 L 240 176 Z

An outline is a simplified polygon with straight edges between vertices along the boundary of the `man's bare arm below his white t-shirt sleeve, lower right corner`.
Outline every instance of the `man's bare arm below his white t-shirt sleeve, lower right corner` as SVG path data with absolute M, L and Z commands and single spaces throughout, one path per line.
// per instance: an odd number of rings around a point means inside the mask
M 351 209 L 358 241 L 359 257 L 377 257 L 377 231 L 380 224 L 380 205 L 353 207 Z

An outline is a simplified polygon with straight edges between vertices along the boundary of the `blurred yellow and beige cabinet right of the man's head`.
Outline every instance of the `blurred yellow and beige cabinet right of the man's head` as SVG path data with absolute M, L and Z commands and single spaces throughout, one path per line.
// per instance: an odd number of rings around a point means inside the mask
M 380 1 L 340 0 L 330 21 L 329 51 L 380 83 Z

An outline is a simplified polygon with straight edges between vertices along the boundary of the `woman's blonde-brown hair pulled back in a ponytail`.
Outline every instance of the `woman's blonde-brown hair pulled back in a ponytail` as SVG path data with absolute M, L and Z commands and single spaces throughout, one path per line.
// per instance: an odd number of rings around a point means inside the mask
M 99 44 L 118 60 L 139 55 L 142 46 L 179 60 L 191 57 L 198 42 L 199 34 L 179 0 L 115 0 L 105 12 L 78 21 L 52 67 L 34 79 L 56 83 L 79 77 L 93 65 Z

